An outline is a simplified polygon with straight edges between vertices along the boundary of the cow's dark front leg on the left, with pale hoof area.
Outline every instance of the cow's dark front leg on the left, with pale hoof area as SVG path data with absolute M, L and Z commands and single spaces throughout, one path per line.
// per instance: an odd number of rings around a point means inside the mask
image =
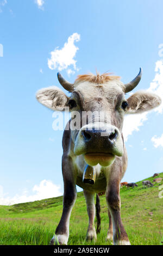
M 71 157 L 62 157 L 62 174 L 64 178 L 64 199 L 61 220 L 55 230 L 55 236 L 51 244 L 59 242 L 60 245 L 67 245 L 69 236 L 70 215 L 77 198 L 76 180 Z

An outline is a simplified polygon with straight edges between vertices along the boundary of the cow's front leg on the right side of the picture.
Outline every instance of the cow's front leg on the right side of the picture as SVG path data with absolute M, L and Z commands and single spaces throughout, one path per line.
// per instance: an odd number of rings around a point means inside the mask
M 130 245 L 121 221 L 120 180 L 111 175 L 106 189 L 106 202 L 112 219 L 114 245 Z

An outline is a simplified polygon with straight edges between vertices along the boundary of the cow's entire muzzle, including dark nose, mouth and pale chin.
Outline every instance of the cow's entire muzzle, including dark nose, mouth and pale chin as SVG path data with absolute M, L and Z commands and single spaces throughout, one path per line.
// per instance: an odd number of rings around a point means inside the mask
M 109 166 L 115 156 L 123 155 L 123 142 L 117 127 L 105 123 L 85 125 L 79 130 L 74 154 L 84 154 L 90 166 Z

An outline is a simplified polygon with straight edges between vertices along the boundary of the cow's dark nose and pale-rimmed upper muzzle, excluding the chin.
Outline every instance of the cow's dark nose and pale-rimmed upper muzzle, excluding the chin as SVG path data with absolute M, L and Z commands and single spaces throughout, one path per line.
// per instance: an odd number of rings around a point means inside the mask
M 83 126 L 75 141 L 74 154 L 87 153 L 110 153 L 122 156 L 123 142 L 118 128 L 105 123 Z

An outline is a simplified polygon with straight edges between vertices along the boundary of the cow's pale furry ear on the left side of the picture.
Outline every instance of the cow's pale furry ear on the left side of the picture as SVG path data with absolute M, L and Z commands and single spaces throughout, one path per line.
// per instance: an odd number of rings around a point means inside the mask
M 58 87 L 52 86 L 39 90 L 36 99 L 42 105 L 57 111 L 63 111 L 67 106 L 69 97 Z

